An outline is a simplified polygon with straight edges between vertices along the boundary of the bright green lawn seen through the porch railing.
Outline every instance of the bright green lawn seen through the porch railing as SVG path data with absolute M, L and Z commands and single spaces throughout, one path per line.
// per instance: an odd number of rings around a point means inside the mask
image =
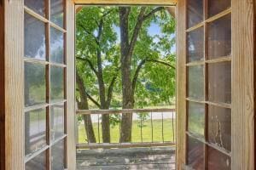
M 142 142 L 141 140 L 141 128 L 139 127 L 140 121 L 133 121 L 132 124 L 132 133 L 131 133 L 131 142 Z M 173 141 L 174 138 L 174 132 L 175 132 L 175 120 L 173 120 L 173 127 L 172 129 L 172 119 L 165 119 L 163 122 L 164 131 L 163 131 L 163 137 L 164 141 Z M 98 135 L 98 123 L 93 123 L 94 132 L 96 135 L 96 141 L 102 142 L 102 127 L 100 125 L 99 133 Z M 152 130 L 151 130 L 151 122 L 150 120 L 147 120 L 144 122 L 143 127 L 143 142 L 152 142 Z M 119 143 L 119 125 L 115 127 L 111 127 L 110 129 L 110 135 L 111 135 L 111 143 Z M 161 120 L 153 120 L 153 141 L 154 142 L 162 142 L 162 121 Z M 79 143 L 87 143 L 87 137 L 84 130 L 84 124 L 79 124 Z

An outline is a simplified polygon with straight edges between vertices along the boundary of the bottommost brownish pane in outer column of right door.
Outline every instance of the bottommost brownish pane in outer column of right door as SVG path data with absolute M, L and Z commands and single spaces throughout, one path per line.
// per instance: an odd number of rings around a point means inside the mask
M 208 147 L 208 170 L 230 170 L 231 159 L 223 153 Z

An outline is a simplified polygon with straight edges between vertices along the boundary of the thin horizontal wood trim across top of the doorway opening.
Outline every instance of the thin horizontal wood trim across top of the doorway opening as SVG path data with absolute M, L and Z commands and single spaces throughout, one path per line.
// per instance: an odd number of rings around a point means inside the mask
M 73 0 L 75 4 L 111 4 L 111 5 L 175 5 L 177 0 Z

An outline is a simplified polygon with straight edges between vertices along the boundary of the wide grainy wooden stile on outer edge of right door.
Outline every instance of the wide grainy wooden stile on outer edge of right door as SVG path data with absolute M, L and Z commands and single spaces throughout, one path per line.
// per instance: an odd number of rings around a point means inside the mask
M 254 0 L 231 0 L 232 131 L 231 167 L 254 167 Z

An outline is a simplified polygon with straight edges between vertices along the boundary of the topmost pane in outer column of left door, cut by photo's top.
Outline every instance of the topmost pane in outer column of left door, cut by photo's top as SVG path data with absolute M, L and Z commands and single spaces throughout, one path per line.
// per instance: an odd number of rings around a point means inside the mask
M 25 0 L 25 5 L 28 8 L 31 8 L 38 14 L 45 16 L 45 1 L 43 0 Z

